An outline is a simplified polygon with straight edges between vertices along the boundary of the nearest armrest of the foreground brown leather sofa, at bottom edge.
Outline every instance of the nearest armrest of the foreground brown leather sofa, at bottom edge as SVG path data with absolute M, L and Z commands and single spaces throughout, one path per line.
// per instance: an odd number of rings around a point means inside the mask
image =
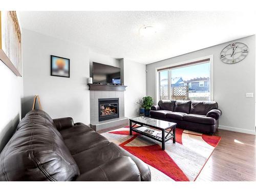
M 76 181 L 140 181 L 140 172 L 131 157 L 121 156 L 83 173 Z

